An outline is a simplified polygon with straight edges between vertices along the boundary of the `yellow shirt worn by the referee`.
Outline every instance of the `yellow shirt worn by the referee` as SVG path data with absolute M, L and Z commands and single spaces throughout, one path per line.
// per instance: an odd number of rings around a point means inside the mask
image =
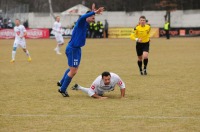
M 142 41 L 140 43 L 149 42 L 150 30 L 151 30 L 151 27 L 147 24 L 145 24 L 144 26 L 137 25 L 134 28 L 133 32 L 131 33 L 130 38 L 132 40 L 136 40 L 136 41 L 137 41 L 137 39 L 142 39 Z

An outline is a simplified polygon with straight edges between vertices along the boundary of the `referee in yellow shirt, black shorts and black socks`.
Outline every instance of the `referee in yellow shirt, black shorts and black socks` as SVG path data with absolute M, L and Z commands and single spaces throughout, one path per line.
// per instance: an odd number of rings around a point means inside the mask
M 141 75 L 147 75 L 149 41 L 150 41 L 150 25 L 146 24 L 145 16 L 139 18 L 139 24 L 134 28 L 130 38 L 136 41 L 136 52 L 138 56 L 138 67 Z M 144 69 L 142 69 L 142 62 Z

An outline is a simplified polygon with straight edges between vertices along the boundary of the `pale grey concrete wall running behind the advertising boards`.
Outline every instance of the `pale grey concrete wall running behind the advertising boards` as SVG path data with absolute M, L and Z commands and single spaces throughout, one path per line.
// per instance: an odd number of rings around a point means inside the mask
M 104 12 L 102 15 L 96 15 L 96 21 L 104 22 L 108 20 L 109 27 L 134 27 L 138 23 L 138 18 L 144 15 L 149 20 L 152 27 L 162 28 L 164 25 L 165 11 L 140 11 L 140 12 Z M 61 16 L 61 22 L 64 27 L 71 27 L 79 16 L 65 15 L 55 13 Z M 29 13 L 30 28 L 51 28 L 53 18 L 49 13 Z M 200 10 L 177 10 L 171 12 L 171 27 L 200 27 Z

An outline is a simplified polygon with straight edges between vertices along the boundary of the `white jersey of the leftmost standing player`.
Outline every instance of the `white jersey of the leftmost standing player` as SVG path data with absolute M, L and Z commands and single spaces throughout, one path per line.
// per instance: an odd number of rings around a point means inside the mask
M 25 41 L 24 33 L 26 32 L 26 29 L 23 25 L 15 26 L 14 27 L 15 32 L 15 42 Z

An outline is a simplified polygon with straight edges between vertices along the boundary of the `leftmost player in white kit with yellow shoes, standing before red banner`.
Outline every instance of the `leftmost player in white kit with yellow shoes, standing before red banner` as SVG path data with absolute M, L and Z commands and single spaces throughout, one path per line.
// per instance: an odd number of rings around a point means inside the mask
M 28 56 L 28 61 L 31 61 L 31 56 L 29 54 L 29 51 L 26 49 L 26 41 L 25 41 L 25 36 L 27 35 L 26 29 L 23 25 L 20 24 L 20 20 L 16 19 L 15 20 L 15 27 L 14 27 L 14 32 L 15 32 L 15 41 L 13 44 L 13 50 L 12 50 L 12 60 L 10 61 L 11 63 L 15 62 L 15 55 L 18 46 L 20 46 L 23 51 L 26 53 Z

